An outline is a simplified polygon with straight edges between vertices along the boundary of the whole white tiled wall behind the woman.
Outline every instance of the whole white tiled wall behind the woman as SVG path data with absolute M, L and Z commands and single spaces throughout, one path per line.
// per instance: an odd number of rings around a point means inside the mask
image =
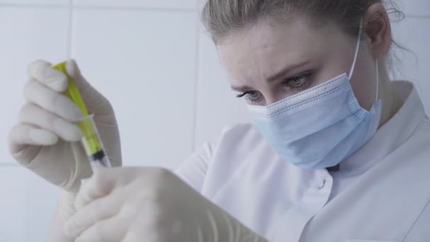
M 0 0 L 0 81 L 7 86 L 0 96 L 7 114 L 0 121 L 0 241 L 45 241 L 57 202 L 53 186 L 24 168 L 1 165 L 14 163 L 5 139 L 33 59 L 59 62 L 71 48 L 83 74 L 117 110 L 126 165 L 176 166 L 221 127 L 249 120 L 199 30 L 196 0 L 74 0 L 71 33 L 69 3 Z M 403 5 L 408 17 L 394 28 L 395 37 L 417 54 L 418 64 L 401 56 L 400 77 L 418 80 L 429 109 L 429 2 Z

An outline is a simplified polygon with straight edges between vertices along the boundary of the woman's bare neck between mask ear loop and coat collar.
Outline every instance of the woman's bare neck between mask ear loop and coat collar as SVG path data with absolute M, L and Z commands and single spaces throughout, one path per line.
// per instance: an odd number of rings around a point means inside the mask
M 385 68 L 381 68 L 379 74 L 379 97 L 382 98 L 382 113 L 379 123 L 379 127 L 381 127 L 402 108 L 403 100 L 397 91 L 395 91 L 394 83 L 390 81 L 388 71 Z

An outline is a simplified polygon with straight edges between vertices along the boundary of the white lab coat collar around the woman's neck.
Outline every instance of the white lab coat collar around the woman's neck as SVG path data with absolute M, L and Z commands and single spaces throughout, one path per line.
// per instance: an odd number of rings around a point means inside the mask
M 340 163 L 340 172 L 367 171 L 405 143 L 425 117 L 424 106 L 414 84 L 409 81 L 393 82 L 405 103 L 388 122 L 378 129 L 369 142 Z

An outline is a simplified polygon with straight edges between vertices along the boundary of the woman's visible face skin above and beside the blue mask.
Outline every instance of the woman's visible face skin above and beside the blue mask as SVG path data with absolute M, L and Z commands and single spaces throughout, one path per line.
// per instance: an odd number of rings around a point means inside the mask
M 238 96 L 252 105 L 269 105 L 349 74 L 356 39 L 335 24 L 312 28 L 297 17 L 288 23 L 261 21 L 231 33 L 217 48 Z M 369 110 L 376 95 L 376 69 L 366 40 L 361 42 L 351 86 L 360 105 Z

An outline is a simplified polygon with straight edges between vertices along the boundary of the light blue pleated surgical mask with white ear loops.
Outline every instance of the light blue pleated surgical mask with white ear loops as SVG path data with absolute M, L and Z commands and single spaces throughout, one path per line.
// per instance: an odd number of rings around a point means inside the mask
M 360 40 L 361 28 L 349 75 L 271 105 L 248 105 L 262 137 L 286 161 L 307 170 L 337 166 L 376 133 L 381 113 L 378 71 L 371 110 L 361 108 L 350 83 Z

